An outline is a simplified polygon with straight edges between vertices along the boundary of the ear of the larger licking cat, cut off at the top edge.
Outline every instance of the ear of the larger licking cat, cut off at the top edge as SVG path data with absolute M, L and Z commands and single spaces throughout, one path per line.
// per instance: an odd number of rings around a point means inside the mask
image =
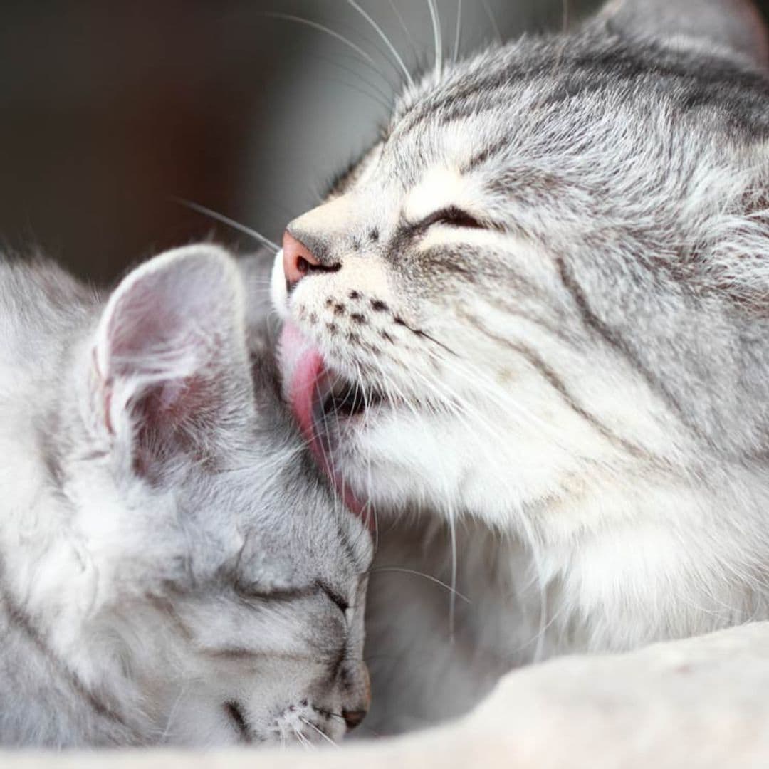
M 767 28 L 751 0 L 611 0 L 598 22 L 621 35 L 701 43 L 769 65 Z

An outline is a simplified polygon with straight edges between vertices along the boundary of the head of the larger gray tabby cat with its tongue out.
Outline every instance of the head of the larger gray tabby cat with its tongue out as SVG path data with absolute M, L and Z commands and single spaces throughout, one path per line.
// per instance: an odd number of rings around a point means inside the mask
M 766 61 L 748 2 L 627 0 L 404 93 L 273 279 L 288 398 L 359 502 L 507 523 L 759 443 Z

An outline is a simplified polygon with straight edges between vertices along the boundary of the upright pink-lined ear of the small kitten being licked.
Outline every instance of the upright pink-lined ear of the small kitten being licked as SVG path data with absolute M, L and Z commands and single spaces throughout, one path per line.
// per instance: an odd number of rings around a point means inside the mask
M 92 348 L 92 417 L 140 474 L 205 461 L 248 408 L 245 299 L 213 245 L 168 251 L 109 298 Z

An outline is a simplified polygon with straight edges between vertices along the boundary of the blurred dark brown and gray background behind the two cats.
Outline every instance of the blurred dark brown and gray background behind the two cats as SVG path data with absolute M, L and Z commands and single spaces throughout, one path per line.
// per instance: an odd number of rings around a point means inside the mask
M 427 0 L 358 2 L 412 72 L 431 65 Z M 437 2 L 451 56 L 458 0 Z M 599 4 L 464 0 L 459 48 Z M 0 18 L 0 244 L 98 282 L 212 234 L 251 246 L 175 197 L 278 239 L 376 135 L 400 82 L 348 0 L 5 0 Z

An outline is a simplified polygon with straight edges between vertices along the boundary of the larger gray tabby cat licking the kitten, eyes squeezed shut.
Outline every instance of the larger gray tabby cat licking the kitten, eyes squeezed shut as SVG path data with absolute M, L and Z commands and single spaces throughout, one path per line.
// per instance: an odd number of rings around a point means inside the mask
M 767 51 L 747 0 L 610 2 L 436 66 L 288 225 L 285 397 L 378 529 L 377 730 L 769 618 Z

